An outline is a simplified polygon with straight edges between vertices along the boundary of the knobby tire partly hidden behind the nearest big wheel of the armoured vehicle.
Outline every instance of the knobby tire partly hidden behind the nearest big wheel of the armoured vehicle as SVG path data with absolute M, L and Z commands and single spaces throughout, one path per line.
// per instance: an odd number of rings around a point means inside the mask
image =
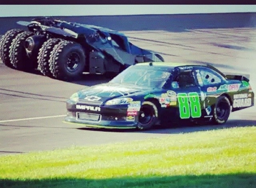
M 62 39 L 60 38 L 50 38 L 45 41 L 42 47 L 39 49 L 38 53 L 38 70 L 48 77 L 53 77 L 50 72 L 49 60 L 50 52 L 53 50 L 54 46 L 57 45 Z

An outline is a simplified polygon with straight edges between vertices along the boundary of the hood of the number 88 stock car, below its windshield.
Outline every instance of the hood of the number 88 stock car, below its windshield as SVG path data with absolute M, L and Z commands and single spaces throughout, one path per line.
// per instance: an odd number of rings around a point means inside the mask
M 151 88 L 130 84 L 107 83 L 91 86 L 79 91 L 79 99 L 105 102 L 112 98 L 126 97 Z

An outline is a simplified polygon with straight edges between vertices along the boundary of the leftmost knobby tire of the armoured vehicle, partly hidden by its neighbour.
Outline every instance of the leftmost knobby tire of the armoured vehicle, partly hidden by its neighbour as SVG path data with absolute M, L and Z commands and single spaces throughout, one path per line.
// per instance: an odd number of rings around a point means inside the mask
M 4 65 L 14 68 L 11 64 L 9 57 L 9 48 L 13 39 L 21 32 L 24 32 L 21 29 L 12 29 L 7 31 L 0 39 L 0 58 L 3 61 Z

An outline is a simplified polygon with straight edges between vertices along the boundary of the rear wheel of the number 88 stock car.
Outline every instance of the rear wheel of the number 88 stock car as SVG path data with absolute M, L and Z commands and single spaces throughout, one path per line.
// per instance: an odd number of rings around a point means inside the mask
M 213 119 L 214 124 L 226 123 L 231 111 L 230 101 L 226 96 L 220 96 L 217 98 L 217 102 L 213 109 Z

